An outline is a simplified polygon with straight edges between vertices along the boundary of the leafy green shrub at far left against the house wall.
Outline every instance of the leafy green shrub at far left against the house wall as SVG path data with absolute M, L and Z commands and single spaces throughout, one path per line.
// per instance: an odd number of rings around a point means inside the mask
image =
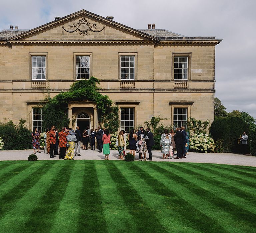
M 7 123 L 0 123 L 0 136 L 4 141 L 5 150 L 23 150 L 31 148 L 31 131 L 24 127 L 25 122 L 25 120 L 20 119 L 17 126 L 11 120 Z

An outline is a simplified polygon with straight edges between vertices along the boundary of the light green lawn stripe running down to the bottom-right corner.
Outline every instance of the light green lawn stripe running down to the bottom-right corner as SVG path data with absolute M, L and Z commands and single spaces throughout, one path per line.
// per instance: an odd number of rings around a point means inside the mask
M 154 163 L 158 163 L 158 162 L 154 162 Z M 161 163 L 160 166 L 163 166 L 164 163 L 166 163 L 166 162 Z M 213 205 L 211 202 L 209 202 L 208 200 L 206 200 L 204 198 L 201 198 L 200 195 L 197 195 L 197 194 L 191 192 L 187 188 L 187 186 L 184 186 L 180 182 L 177 175 L 170 176 L 168 174 L 165 174 L 166 172 L 162 172 L 162 171 L 159 172 L 153 168 L 150 168 L 149 166 L 141 165 L 141 168 L 143 168 L 145 173 L 148 173 L 152 177 L 155 177 L 158 181 L 163 183 L 167 188 L 169 188 L 174 193 L 176 193 L 176 195 L 180 196 L 182 199 L 184 199 L 185 201 L 190 203 L 195 209 L 202 212 L 209 218 L 212 218 L 216 222 L 216 224 L 218 224 L 222 228 L 224 228 L 225 231 L 237 232 L 237 229 L 240 229 L 240 231 L 244 230 L 244 229 L 248 229 L 247 226 L 244 228 L 243 226 L 241 226 L 241 224 L 239 222 L 234 220 L 232 214 L 221 210 L 218 206 Z M 173 170 L 171 167 L 169 167 L 168 169 Z M 196 216 L 196 215 L 194 215 L 193 212 L 187 211 L 184 214 L 183 218 L 187 218 L 187 215 Z M 205 221 L 205 220 L 204 220 L 204 218 L 200 218 L 200 219 L 195 218 L 194 219 L 195 224 L 197 224 L 197 222 L 199 222 L 199 221 Z M 207 221 L 206 221 L 206 223 L 207 223 Z M 251 231 L 252 228 L 249 228 L 249 230 Z M 222 231 L 220 231 L 220 232 L 222 232 Z

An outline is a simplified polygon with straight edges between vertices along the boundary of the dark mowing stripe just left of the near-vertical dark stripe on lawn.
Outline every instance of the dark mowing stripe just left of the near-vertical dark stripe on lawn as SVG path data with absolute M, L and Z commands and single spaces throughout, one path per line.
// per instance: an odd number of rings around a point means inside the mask
M 28 232 L 36 232 L 38 229 L 49 232 L 54 223 L 55 212 L 64 196 L 74 166 L 73 161 L 59 161 L 59 163 L 59 174 L 47 187 L 45 194 L 38 200 L 37 207 L 30 212 L 30 217 L 25 223 Z

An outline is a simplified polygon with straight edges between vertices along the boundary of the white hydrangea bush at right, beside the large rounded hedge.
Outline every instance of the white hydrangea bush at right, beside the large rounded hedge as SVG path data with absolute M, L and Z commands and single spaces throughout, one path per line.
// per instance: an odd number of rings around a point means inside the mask
M 207 133 L 194 133 L 193 137 L 191 137 L 189 140 L 189 148 L 202 153 L 213 152 L 215 148 L 215 142 L 208 136 Z

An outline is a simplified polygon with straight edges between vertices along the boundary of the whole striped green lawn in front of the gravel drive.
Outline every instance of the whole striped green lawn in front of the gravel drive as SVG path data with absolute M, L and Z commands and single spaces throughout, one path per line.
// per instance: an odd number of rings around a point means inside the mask
M 255 167 L 1 161 L 0 232 L 255 232 Z

